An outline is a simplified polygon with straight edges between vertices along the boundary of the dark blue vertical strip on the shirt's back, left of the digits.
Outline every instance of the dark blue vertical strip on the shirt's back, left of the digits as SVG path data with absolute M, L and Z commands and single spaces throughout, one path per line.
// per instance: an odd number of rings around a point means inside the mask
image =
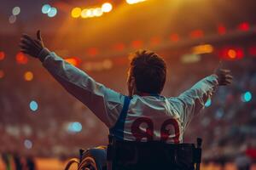
M 124 106 L 119 115 L 119 119 L 117 120 L 115 125 L 109 129 L 110 134 L 112 134 L 117 139 L 124 139 L 125 118 L 127 116 L 127 111 L 129 109 L 130 102 L 131 98 L 125 96 Z

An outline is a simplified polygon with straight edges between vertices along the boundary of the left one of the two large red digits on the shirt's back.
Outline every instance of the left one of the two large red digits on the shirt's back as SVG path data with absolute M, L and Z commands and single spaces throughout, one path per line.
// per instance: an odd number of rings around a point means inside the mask
M 146 132 L 143 131 L 140 126 L 146 123 L 147 128 Z M 154 133 L 154 124 L 151 119 L 148 117 L 140 117 L 135 120 L 135 122 L 131 125 L 131 133 L 136 138 L 137 141 L 141 141 L 143 138 L 147 138 L 147 141 L 153 140 L 153 133 Z

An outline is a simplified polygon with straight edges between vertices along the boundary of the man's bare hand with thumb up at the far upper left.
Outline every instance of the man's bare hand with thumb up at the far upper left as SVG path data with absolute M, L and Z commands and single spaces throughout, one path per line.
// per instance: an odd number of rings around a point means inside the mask
M 38 54 L 44 48 L 44 42 L 42 41 L 41 31 L 37 32 L 37 39 L 23 34 L 20 38 L 20 51 L 29 54 L 32 57 L 38 58 Z

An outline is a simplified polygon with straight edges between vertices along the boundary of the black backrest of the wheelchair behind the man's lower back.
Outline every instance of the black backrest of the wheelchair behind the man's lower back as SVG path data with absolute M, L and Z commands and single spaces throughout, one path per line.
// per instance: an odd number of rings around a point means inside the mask
M 194 170 L 201 162 L 195 144 L 121 141 L 110 137 L 108 170 Z M 198 169 L 198 168 L 197 168 Z

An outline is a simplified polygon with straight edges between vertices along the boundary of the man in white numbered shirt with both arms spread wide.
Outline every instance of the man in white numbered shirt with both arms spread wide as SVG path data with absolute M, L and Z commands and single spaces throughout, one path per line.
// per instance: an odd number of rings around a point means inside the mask
M 44 67 L 79 99 L 117 139 L 182 143 L 183 133 L 218 86 L 232 82 L 230 71 L 218 69 L 177 97 L 160 93 L 166 82 L 166 63 L 158 54 L 138 50 L 128 71 L 129 95 L 119 94 L 96 82 L 44 47 L 40 31 L 34 39 L 23 35 L 20 51 L 40 59 Z

